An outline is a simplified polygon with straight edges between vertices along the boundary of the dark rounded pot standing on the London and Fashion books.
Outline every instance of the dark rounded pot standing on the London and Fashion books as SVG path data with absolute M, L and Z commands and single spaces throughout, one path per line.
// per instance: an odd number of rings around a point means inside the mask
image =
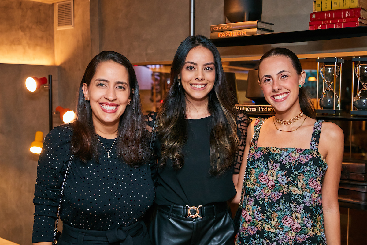
M 224 0 L 224 14 L 231 22 L 261 19 L 262 0 Z

